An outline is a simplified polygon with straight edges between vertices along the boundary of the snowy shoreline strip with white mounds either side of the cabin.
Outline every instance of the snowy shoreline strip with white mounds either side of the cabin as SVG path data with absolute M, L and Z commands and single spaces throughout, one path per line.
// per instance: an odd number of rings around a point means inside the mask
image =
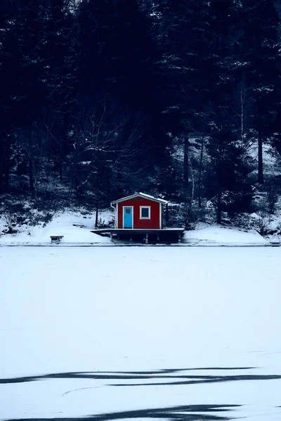
M 103 221 L 109 224 L 112 213 L 105 210 Z M 91 232 L 94 225 L 93 215 L 67 211 L 58 213 L 50 222 L 35 226 L 18 225 L 15 234 L 0 234 L 1 246 L 37 247 L 271 247 L 278 246 L 280 236 L 265 238 L 256 230 L 242 230 L 237 227 L 208 225 L 199 223 L 190 231 L 185 231 L 181 243 L 149 244 L 112 243 L 109 237 Z M 0 232 L 4 232 L 6 222 L 0 219 Z M 61 236 L 60 243 L 51 244 L 51 236 Z

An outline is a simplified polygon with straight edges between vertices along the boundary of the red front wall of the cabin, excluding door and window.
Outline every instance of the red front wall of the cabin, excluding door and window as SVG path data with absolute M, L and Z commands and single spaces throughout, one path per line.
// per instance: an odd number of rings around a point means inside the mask
M 134 229 L 159 229 L 161 228 L 160 212 L 161 204 L 156 201 L 135 197 L 117 203 L 117 228 L 123 228 L 123 206 L 133 206 L 133 228 Z M 140 218 L 140 207 L 150 206 L 150 219 Z

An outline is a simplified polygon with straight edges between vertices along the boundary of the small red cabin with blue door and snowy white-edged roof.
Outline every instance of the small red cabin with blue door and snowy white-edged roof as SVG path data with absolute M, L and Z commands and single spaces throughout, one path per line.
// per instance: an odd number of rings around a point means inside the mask
M 112 201 L 115 229 L 162 229 L 162 206 L 166 203 L 144 193 Z

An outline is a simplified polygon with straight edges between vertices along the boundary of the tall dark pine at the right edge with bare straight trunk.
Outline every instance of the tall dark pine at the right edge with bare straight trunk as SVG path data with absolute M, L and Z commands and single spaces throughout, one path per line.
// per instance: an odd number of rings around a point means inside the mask
M 273 133 L 277 86 L 278 28 L 280 19 L 273 0 L 243 0 L 243 60 L 246 83 L 253 98 L 253 128 L 259 147 L 258 182 L 263 182 L 263 144 Z

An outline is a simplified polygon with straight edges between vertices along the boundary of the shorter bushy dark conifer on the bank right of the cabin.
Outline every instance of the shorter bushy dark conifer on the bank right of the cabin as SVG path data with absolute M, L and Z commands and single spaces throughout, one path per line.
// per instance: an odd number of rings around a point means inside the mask
M 216 123 L 210 126 L 207 143 L 210 162 L 204 180 L 207 197 L 216 206 L 219 224 L 222 211 L 248 212 L 252 200 L 251 158 L 245 153 L 244 145 L 237 141 L 237 133 L 226 112 L 223 108 L 219 113 L 216 110 Z

